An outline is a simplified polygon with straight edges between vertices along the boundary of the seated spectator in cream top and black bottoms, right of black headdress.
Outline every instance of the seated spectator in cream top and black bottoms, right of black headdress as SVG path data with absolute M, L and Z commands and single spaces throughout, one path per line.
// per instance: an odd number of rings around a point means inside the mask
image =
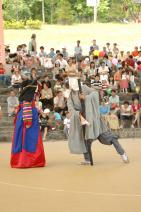
M 44 109 L 47 107 L 47 105 L 53 106 L 53 93 L 49 82 L 43 82 L 42 85 L 43 89 L 41 90 L 41 102 Z

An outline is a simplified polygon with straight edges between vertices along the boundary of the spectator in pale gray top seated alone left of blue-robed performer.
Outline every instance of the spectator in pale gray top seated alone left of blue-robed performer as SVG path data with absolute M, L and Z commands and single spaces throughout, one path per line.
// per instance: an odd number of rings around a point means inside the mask
M 18 97 L 16 97 L 16 94 L 14 91 L 10 92 L 10 96 L 7 98 L 8 103 L 8 115 L 15 116 L 16 114 L 16 107 L 19 105 Z

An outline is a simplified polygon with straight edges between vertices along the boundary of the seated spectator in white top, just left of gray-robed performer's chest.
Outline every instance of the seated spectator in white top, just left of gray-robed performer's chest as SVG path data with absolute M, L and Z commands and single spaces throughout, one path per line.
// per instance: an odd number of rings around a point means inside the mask
M 59 112 L 63 111 L 66 107 L 62 91 L 57 91 L 56 97 L 54 97 L 54 108 L 56 107 L 59 109 Z

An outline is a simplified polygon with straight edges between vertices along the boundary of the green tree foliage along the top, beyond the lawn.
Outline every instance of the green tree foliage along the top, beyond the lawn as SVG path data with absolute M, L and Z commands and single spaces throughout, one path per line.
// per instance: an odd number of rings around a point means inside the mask
M 3 0 L 4 19 L 42 20 L 43 0 Z M 93 7 L 87 7 L 86 0 L 44 0 L 47 23 L 71 24 L 91 22 Z M 141 17 L 141 4 L 134 0 L 100 0 L 98 20 L 101 22 L 135 21 Z

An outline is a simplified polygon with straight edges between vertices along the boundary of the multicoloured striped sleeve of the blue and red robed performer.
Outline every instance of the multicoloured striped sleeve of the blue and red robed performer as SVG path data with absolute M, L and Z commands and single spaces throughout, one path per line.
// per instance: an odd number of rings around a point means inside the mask
M 25 125 L 32 125 L 32 103 L 23 102 L 23 122 Z

